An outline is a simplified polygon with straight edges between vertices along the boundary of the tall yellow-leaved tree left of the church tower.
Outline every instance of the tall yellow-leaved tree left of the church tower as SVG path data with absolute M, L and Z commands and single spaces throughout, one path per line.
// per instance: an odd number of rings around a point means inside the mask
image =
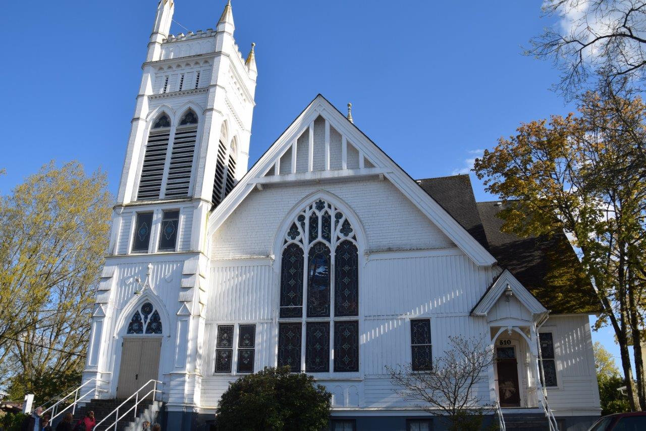
M 83 366 L 111 201 L 105 174 L 78 162 L 0 198 L 0 385 L 16 396 L 59 392 Z

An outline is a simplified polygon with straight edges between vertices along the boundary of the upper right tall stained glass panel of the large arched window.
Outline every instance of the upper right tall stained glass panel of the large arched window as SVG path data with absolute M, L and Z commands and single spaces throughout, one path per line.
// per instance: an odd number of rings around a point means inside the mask
M 334 315 L 359 315 L 359 254 L 346 240 L 335 251 Z

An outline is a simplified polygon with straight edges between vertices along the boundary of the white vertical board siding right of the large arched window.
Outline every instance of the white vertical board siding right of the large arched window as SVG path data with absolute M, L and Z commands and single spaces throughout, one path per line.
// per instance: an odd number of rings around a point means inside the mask
M 468 313 L 490 273 L 464 255 L 369 260 L 364 315 Z

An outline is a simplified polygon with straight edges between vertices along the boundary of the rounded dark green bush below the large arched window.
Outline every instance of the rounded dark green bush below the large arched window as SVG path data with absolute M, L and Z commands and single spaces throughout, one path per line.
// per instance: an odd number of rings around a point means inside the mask
M 311 375 L 266 367 L 229 384 L 216 423 L 219 431 L 320 431 L 328 426 L 331 397 Z

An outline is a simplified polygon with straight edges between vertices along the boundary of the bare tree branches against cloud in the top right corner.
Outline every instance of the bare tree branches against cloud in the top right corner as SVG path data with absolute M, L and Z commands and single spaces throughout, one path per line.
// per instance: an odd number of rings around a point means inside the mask
M 547 0 L 547 16 L 559 23 L 532 39 L 526 54 L 561 68 L 557 89 L 567 96 L 596 78 L 646 78 L 646 1 Z

